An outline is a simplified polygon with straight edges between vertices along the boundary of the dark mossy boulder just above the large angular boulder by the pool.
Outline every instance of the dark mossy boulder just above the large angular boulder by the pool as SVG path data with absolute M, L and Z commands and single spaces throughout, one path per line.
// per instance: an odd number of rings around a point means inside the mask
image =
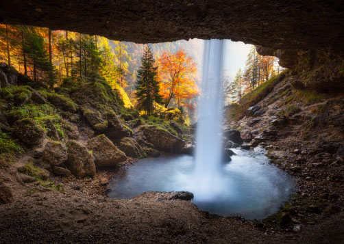
M 131 137 L 132 131 L 127 127 L 114 112 L 107 113 L 108 128 L 104 134 L 110 139 L 116 140 L 123 137 Z

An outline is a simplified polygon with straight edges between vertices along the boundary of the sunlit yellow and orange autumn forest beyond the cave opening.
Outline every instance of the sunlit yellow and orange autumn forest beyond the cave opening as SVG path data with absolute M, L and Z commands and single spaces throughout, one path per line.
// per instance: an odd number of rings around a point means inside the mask
M 87 82 L 92 74 L 99 74 L 120 94 L 125 107 L 136 107 L 149 115 L 170 107 L 195 121 L 201 40 L 143 45 L 24 25 L 0 25 L 0 33 L 1 62 L 50 89 L 66 81 Z M 156 68 L 151 78 L 158 90 L 149 95 L 150 105 L 143 106 L 144 94 L 138 92 L 136 83 L 147 48 L 152 59 L 149 68 Z M 238 70 L 233 81 L 224 81 L 228 103 L 240 102 L 247 92 L 280 73 L 277 61 L 273 56 L 259 55 L 251 46 L 243 71 Z M 154 98 L 154 93 L 160 98 Z

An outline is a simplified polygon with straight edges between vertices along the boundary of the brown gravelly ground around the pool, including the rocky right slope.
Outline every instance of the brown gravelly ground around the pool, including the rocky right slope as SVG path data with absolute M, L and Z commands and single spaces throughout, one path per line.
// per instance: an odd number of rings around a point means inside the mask
M 52 176 L 64 189 L 56 191 L 18 172 L 32 150 L 0 171 L 13 193 L 12 202 L 0 204 L 0 243 L 343 243 L 343 96 L 310 105 L 295 99 L 302 109 L 291 113 L 288 90 L 286 79 L 258 103 L 259 113 L 231 124 L 295 178 L 295 194 L 275 215 L 262 221 L 209 215 L 173 193 L 108 198 L 109 180 L 135 163 L 131 158 L 93 179 Z

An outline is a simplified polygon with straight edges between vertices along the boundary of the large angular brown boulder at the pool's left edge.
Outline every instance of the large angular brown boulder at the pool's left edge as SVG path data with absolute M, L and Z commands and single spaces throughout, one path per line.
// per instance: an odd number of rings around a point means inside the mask
M 97 167 L 114 166 L 117 163 L 127 160 L 125 153 L 114 146 L 112 141 L 105 135 L 98 135 L 89 139 L 87 147 L 92 151 Z

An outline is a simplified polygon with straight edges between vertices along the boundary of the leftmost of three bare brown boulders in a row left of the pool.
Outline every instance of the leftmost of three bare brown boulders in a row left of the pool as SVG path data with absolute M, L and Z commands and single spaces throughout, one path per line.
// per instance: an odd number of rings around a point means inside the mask
M 49 163 L 51 167 L 63 165 L 68 159 L 66 146 L 59 141 L 49 141 L 45 145 L 42 161 Z

